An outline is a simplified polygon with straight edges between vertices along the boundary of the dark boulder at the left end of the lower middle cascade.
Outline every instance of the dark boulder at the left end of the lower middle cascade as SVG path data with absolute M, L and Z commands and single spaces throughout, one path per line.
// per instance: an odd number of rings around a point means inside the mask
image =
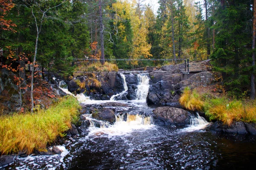
M 116 120 L 115 112 L 109 108 L 95 109 L 92 111 L 92 117 L 97 120 L 108 121 L 111 124 L 113 124 Z

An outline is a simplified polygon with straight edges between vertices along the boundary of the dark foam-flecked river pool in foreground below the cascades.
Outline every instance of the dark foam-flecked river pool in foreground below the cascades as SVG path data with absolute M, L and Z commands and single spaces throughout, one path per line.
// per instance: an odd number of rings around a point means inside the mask
M 16 158 L 16 170 L 242 170 L 255 169 L 252 136 L 152 126 L 123 135 L 80 135 L 66 156 Z

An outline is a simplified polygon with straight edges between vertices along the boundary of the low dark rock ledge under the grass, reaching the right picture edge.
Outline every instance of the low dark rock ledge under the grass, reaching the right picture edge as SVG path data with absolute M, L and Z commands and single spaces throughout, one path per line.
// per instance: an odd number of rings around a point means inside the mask
M 251 134 L 256 135 L 256 124 L 244 122 L 234 122 L 230 126 L 224 125 L 221 121 L 216 121 L 209 126 L 209 130 L 228 134 Z

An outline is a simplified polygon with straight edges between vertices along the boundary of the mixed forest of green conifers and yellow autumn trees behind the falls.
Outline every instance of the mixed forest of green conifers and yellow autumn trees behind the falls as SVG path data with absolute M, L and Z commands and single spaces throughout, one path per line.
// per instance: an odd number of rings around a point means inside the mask
M 158 3 L 155 14 L 144 0 L 0 0 L 1 67 L 23 82 L 26 63 L 72 75 L 74 58 L 211 59 L 229 95 L 254 99 L 255 2 Z

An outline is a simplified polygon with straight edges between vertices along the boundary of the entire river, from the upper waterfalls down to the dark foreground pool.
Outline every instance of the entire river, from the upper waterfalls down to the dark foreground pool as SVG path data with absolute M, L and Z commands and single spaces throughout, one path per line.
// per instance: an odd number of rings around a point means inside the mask
M 70 140 L 61 156 L 15 157 L 6 170 L 240 170 L 254 169 L 255 137 L 224 135 L 207 130 L 209 122 L 199 115 L 188 127 L 154 125 L 145 96 L 149 87 L 147 75 L 138 76 L 137 100 L 115 101 L 128 107 L 114 107 L 127 112 L 127 118 L 116 114 L 113 125 L 90 127 L 77 139 Z M 124 78 L 125 86 L 125 78 Z M 124 87 L 127 91 L 127 88 Z M 118 96 L 111 101 L 118 100 Z M 101 104 L 84 95 L 76 96 L 84 104 Z M 120 96 L 121 97 L 121 96 Z M 143 112 L 144 114 L 141 114 Z

